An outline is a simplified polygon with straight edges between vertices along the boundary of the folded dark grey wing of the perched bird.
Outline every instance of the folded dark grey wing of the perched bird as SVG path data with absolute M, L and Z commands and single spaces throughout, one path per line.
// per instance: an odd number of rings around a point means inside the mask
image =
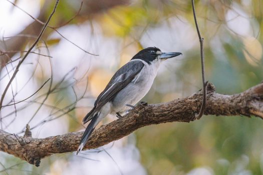
M 128 62 L 123 65 L 111 78 L 105 89 L 100 93 L 94 103 L 93 109 L 83 118 L 83 122 L 86 123 L 93 118 L 95 112 L 101 109 L 101 107 L 108 101 L 112 100 L 114 96 L 128 85 L 134 77 L 141 71 L 144 63 L 140 60 Z

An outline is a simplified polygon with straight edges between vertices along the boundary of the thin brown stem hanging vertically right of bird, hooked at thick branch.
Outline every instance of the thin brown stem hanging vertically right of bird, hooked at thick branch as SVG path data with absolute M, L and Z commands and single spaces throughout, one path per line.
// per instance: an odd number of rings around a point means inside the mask
M 200 42 L 200 51 L 201 51 L 201 67 L 202 67 L 202 81 L 203 81 L 203 100 L 202 100 L 200 111 L 195 116 L 196 119 L 200 119 L 201 116 L 203 115 L 204 109 L 205 109 L 205 104 L 206 104 L 206 86 L 207 86 L 208 81 L 205 81 L 205 75 L 204 75 L 204 72 L 205 72 L 204 71 L 204 48 L 203 48 L 203 40 L 204 40 L 204 38 L 201 36 L 199 28 L 198 28 L 198 24 L 197 24 L 197 20 L 196 20 L 196 14 L 195 14 L 194 0 L 192 0 L 192 8 L 193 8 L 193 17 L 194 17 L 194 22 L 195 22 L 195 26 L 196 26 L 199 42 Z

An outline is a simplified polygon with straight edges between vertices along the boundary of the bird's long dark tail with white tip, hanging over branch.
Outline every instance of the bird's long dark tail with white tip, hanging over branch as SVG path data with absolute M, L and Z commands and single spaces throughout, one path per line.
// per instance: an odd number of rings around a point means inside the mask
M 91 122 L 89 123 L 89 125 L 87 126 L 84 134 L 82 135 L 82 138 L 80 140 L 80 145 L 79 145 L 78 150 L 77 150 L 77 154 L 80 153 L 80 151 L 83 149 L 83 147 L 87 143 L 91 133 L 93 132 L 93 130 L 94 130 L 95 126 L 96 126 L 95 123 L 96 123 L 97 119 L 98 119 L 98 114 L 96 113 L 93 116 L 93 118 L 92 118 Z

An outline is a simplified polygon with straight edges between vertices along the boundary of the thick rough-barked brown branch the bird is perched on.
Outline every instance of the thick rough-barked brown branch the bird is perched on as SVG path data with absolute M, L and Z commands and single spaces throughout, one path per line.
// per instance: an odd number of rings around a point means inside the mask
M 255 115 L 263 118 L 263 83 L 234 95 L 216 93 L 212 84 L 208 84 L 207 90 L 206 115 Z M 166 103 L 140 104 L 124 117 L 96 129 L 84 149 L 105 145 L 150 124 L 193 121 L 201 101 L 202 93 L 198 91 L 191 96 Z M 0 130 L 0 150 L 38 166 L 41 158 L 77 150 L 82 134 L 83 132 L 71 132 L 46 138 L 32 138 L 15 136 Z

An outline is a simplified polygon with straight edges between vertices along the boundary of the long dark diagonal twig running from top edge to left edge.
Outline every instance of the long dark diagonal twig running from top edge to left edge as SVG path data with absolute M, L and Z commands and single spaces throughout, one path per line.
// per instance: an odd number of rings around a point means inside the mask
M 53 14 L 54 14 L 55 11 L 56 11 L 56 8 L 57 8 L 57 6 L 58 6 L 58 3 L 59 3 L 59 0 L 56 0 L 56 4 L 55 4 L 55 6 L 54 6 L 54 8 L 53 8 L 53 11 L 51 12 L 51 14 L 50 14 L 47 22 L 45 23 L 44 27 L 42 28 L 42 30 L 41 30 L 38 38 L 37 38 L 36 41 L 32 44 L 32 46 L 29 48 L 29 50 L 28 50 L 28 52 L 25 54 L 25 56 L 19 61 L 18 65 L 17 65 L 17 67 L 16 67 L 16 69 L 15 69 L 15 71 L 14 71 L 14 74 L 12 75 L 10 81 L 8 82 L 8 84 L 7 84 L 4 92 L 3 92 L 3 94 L 2 94 L 2 97 L 1 97 L 1 100 L 0 100 L 0 111 L 1 111 L 1 109 L 2 109 L 3 101 L 4 101 L 4 98 L 5 98 L 5 95 L 6 95 L 7 91 L 8 91 L 8 88 L 9 88 L 9 86 L 11 85 L 12 81 L 15 79 L 15 77 L 16 77 L 18 71 L 19 71 L 19 67 L 20 67 L 21 64 L 25 61 L 25 59 L 27 58 L 27 56 L 29 55 L 29 53 L 31 52 L 31 50 L 32 50 L 32 49 L 35 47 L 35 45 L 39 42 L 41 36 L 43 35 L 44 31 L 46 30 L 46 28 L 47 28 L 47 26 L 48 26 L 48 24 L 49 24 L 49 22 L 50 22 L 50 20 L 51 20 L 51 17 L 53 16 Z M 0 115 L 0 120 L 2 120 L 2 116 L 1 116 L 1 115 Z

